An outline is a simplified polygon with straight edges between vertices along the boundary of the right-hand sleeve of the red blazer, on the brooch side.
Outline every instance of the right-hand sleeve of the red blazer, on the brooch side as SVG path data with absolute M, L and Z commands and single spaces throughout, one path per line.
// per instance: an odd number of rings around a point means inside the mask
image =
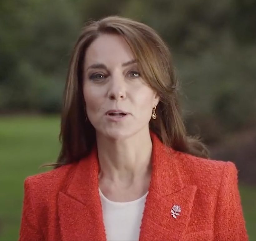
M 214 240 L 248 241 L 238 190 L 237 169 L 233 162 L 224 165 L 215 218 Z

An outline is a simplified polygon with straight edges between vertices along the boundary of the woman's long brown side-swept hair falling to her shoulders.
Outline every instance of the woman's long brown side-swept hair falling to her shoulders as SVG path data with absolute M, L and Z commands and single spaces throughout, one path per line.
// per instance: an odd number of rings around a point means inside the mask
M 142 78 L 160 96 L 157 118 L 150 130 L 169 147 L 198 157 L 208 157 L 208 150 L 197 137 L 187 136 L 178 103 L 178 80 L 175 77 L 168 46 L 155 30 L 134 20 L 110 16 L 87 22 L 74 47 L 64 91 L 59 135 L 62 148 L 56 166 L 80 160 L 96 142 L 95 129 L 86 121 L 82 92 L 83 66 L 88 46 L 100 34 L 119 34 L 129 44 Z

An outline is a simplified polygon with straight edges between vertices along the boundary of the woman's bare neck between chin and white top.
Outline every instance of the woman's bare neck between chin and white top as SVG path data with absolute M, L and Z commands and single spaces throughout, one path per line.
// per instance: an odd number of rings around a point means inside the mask
M 149 130 L 121 140 L 112 140 L 101 134 L 97 134 L 96 139 L 99 179 L 129 185 L 150 175 L 152 142 Z

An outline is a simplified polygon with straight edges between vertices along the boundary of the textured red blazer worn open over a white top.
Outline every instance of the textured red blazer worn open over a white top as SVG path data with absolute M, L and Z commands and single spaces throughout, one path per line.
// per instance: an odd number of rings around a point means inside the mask
M 245 241 L 248 236 L 232 162 L 165 147 L 151 133 L 152 176 L 140 241 Z M 25 180 L 20 241 L 106 241 L 96 147 L 79 162 Z M 181 208 L 176 219 L 173 205 Z

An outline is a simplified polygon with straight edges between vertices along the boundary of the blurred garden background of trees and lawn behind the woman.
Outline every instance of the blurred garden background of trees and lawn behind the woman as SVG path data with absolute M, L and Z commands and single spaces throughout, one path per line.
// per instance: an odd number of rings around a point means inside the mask
M 255 0 L 1 0 L 0 240 L 17 240 L 23 182 L 60 149 L 60 109 L 72 47 L 87 20 L 121 15 L 169 44 L 183 117 L 211 158 L 233 161 L 256 240 Z M 232 217 L 230 217 L 232 218 Z

